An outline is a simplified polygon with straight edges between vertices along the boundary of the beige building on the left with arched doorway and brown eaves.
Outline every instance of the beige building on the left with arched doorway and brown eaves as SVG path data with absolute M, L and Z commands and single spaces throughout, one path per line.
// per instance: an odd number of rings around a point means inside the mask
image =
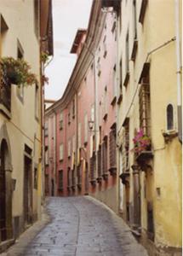
M 13 84 L 1 69 L 0 252 L 41 214 L 43 81 L 41 52 L 53 54 L 51 1 L 1 1 L 0 60 L 25 60 L 37 83 Z

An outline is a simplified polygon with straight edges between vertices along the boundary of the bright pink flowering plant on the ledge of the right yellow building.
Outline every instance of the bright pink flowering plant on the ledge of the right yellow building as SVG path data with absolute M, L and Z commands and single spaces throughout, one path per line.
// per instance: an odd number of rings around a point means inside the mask
M 151 150 L 151 139 L 144 131 L 140 129 L 137 131 L 135 137 L 133 138 L 134 148 L 132 149 L 134 153 L 140 154 L 142 151 Z

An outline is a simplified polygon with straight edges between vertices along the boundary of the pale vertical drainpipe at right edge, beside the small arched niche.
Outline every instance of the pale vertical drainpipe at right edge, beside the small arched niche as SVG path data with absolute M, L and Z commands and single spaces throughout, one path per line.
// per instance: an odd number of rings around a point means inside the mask
M 177 65 L 177 119 L 178 119 L 178 137 L 182 143 L 182 107 L 181 107 L 181 61 L 180 61 L 180 1 L 174 1 L 175 8 L 175 34 L 176 34 L 176 65 Z

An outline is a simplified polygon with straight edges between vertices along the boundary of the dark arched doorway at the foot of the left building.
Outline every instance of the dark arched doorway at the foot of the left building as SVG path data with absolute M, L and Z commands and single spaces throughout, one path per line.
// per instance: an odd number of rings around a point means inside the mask
M 0 144 L 0 160 L 0 241 L 5 241 L 12 237 L 12 170 L 5 139 Z

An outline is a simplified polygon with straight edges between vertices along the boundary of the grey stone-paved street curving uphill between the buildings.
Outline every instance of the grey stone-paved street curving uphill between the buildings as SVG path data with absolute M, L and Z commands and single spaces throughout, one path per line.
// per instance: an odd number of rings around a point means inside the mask
M 49 198 L 49 224 L 23 248 L 17 242 L 2 255 L 122 256 L 147 255 L 129 227 L 105 205 L 89 196 Z M 31 235 L 31 230 L 26 231 Z

